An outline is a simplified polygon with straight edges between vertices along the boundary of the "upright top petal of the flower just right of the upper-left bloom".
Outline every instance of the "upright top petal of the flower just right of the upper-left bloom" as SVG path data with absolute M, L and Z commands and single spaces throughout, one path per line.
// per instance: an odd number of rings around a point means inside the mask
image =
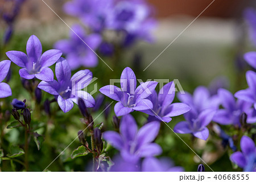
M 59 82 L 69 81 L 71 78 L 71 69 L 69 67 L 68 61 L 65 60 L 63 57 L 60 57 L 60 59 L 56 63 L 55 75 Z

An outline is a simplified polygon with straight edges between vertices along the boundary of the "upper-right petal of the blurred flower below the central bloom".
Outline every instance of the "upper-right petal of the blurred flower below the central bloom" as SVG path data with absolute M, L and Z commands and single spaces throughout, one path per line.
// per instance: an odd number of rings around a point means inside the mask
M 160 122 L 152 121 L 142 126 L 137 134 L 137 143 L 139 146 L 152 142 L 158 135 Z

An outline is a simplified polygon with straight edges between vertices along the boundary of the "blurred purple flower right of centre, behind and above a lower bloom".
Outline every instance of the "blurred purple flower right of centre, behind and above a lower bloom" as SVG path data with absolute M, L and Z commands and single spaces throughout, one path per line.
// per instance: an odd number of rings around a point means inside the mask
M 188 92 L 185 94 L 179 93 L 179 100 L 189 107 L 195 114 L 200 114 L 205 109 L 218 109 L 220 99 L 217 95 L 211 96 L 209 90 L 205 86 L 199 86 L 193 92 L 193 96 Z

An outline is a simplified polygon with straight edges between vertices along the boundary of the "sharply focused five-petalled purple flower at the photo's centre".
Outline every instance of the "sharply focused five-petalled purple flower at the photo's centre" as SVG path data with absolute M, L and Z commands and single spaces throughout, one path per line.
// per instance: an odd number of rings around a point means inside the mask
M 143 82 L 136 88 L 136 76 L 129 67 L 123 69 L 120 82 L 121 89 L 114 85 L 107 85 L 100 89 L 102 94 L 118 101 L 114 107 L 117 116 L 129 114 L 134 110 L 143 111 L 148 108 L 152 109 L 152 102 L 145 98 L 152 94 L 158 82 Z

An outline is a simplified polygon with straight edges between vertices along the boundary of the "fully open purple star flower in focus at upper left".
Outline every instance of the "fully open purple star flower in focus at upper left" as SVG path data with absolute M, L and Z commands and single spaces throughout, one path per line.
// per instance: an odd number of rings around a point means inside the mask
M 53 72 L 50 68 L 62 55 L 62 52 L 51 49 L 42 54 L 40 40 L 32 35 L 27 42 L 27 55 L 20 51 L 8 51 L 6 55 L 13 63 L 21 67 L 19 75 L 30 80 L 34 77 L 43 81 L 52 81 Z

